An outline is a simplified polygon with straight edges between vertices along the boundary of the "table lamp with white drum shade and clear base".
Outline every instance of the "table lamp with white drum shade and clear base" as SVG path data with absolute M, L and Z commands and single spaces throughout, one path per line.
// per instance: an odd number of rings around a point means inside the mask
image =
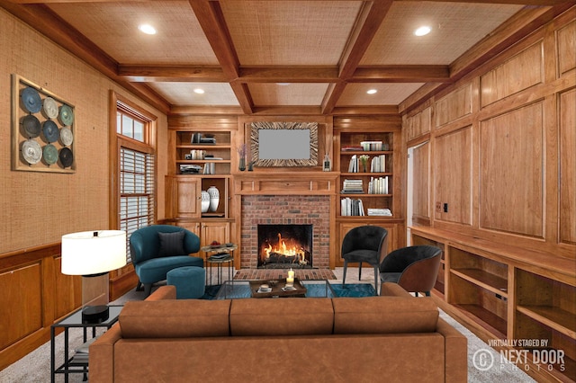
M 126 232 L 83 231 L 62 236 L 62 273 L 82 275 L 82 321 L 108 319 L 108 272 L 126 264 Z

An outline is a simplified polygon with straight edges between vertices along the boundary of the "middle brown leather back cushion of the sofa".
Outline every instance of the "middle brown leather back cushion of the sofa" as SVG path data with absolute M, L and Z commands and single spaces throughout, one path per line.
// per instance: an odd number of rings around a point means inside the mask
M 334 310 L 329 298 L 233 299 L 233 336 L 332 334 Z

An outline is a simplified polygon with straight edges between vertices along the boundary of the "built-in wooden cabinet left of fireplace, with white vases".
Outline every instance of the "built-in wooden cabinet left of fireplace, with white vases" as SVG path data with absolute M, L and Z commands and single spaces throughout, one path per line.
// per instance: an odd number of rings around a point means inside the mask
M 236 118 L 172 116 L 169 124 L 163 222 L 189 229 L 200 237 L 202 246 L 232 242 L 230 166 Z M 218 207 L 202 210 L 202 191 L 212 187 L 219 193 Z

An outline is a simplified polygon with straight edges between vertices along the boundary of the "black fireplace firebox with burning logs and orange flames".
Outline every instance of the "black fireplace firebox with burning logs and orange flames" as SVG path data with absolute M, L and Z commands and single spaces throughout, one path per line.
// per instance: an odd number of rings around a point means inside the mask
M 259 224 L 258 268 L 312 268 L 312 227 L 303 224 Z

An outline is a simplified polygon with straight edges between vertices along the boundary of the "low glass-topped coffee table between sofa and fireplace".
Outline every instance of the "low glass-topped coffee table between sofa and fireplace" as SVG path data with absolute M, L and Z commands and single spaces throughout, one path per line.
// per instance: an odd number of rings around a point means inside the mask
M 272 280 L 276 281 L 275 288 L 282 291 L 285 285 L 285 280 Z M 275 294 L 274 290 L 270 293 L 257 293 L 257 289 L 262 284 L 271 285 L 271 281 L 224 281 L 218 290 L 215 299 L 238 299 L 238 298 L 283 298 L 283 297 L 306 297 L 306 298 L 334 298 L 336 293 L 332 289 L 331 284 L 327 280 L 294 280 L 302 285 L 303 289 L 293 291 L 283 291 L 283 294 Z M 256 297 L 254 297 L 256 295 Z

